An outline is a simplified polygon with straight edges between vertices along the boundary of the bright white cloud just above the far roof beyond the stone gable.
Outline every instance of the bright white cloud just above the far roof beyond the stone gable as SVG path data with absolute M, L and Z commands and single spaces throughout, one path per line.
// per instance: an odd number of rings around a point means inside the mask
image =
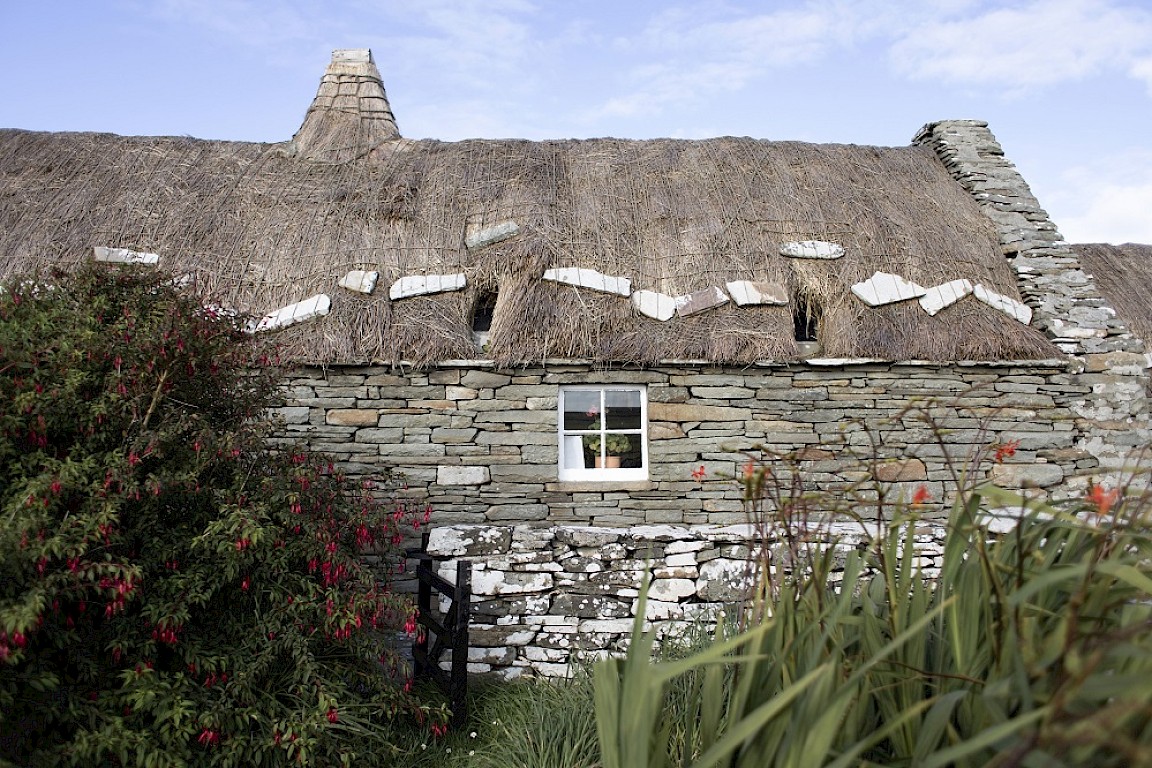
M 1152 151 L 1071 168 L 1048 197 L 1053 221 L 1070 243 L 1152 243 Z

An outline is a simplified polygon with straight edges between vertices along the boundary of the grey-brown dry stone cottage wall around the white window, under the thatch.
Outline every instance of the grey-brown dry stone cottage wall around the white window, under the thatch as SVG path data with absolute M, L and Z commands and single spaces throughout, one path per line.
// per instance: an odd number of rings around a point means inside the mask
M 647 480 L 558 479 L 558 391 L 588 383 L 646 388 Z M 942 502 L 949 464 L 1018 441 L 1003 464 L 979 471 L 1010 487 L 1077 494 L 1100 467 L 1098 427 L 1081 415 L 1097 383 L 1064 360 L 645 371 L 574 362 L 500 371 L 473 360 L 301 371 L 280 416 L 285 439 L 332 454 L 353 476 L 402 472 L 439 525 L 729 525 L 745 519 L 732 478 L 761 451 L 791 454 L 813 491 L 880 481 L 910 497 L 923 485 Z M 909 410 L 929 398 L 942 435 Z

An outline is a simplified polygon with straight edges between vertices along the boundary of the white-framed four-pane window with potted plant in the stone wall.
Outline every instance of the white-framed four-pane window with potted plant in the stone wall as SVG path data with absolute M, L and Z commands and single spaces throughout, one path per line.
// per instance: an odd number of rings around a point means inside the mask
M 643 387 L 560 390 L 560 479 L 646 480 L 647 397 Z

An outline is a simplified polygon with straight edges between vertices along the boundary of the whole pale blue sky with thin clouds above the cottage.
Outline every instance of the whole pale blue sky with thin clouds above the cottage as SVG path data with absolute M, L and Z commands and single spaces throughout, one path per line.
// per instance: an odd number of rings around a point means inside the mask
M 1067 239 L 1152 243 L 1149 0 L 2 0 L 0 128 L 285 140 L 342 47 L 411 138 L 986 120 Z

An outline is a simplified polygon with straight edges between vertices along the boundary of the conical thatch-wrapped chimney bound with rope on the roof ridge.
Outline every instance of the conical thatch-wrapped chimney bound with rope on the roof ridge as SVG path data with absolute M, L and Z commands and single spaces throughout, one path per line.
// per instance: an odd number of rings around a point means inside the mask
M 293 137 L 296 155 L 318 162 L 347 162 L 396 138 L 400 130 L 372 52 L 333 51 L 320 89 Z

